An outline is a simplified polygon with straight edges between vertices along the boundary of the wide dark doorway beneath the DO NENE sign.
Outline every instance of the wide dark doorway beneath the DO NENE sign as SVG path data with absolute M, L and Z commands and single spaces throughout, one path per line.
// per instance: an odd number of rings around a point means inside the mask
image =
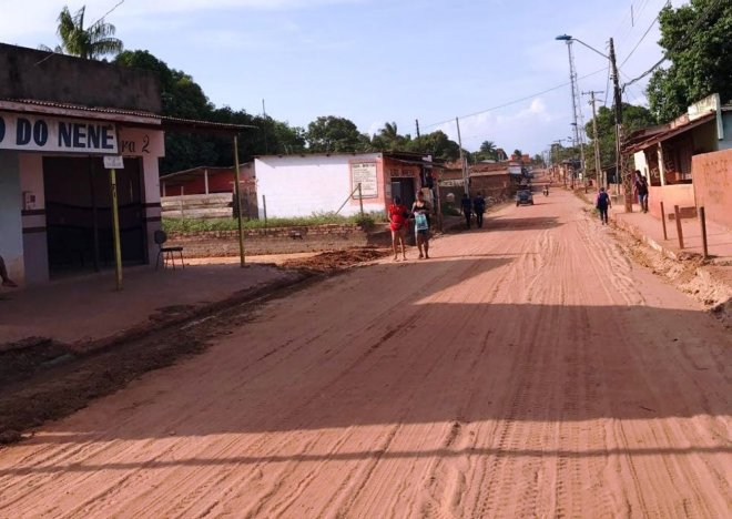
M 122 261 L 146 262 L 142 169 L 125 159 L 116 172 Z M 114 265 L 112 196 L 101 157 L 43 159 L 49 269 L 52 277 Z

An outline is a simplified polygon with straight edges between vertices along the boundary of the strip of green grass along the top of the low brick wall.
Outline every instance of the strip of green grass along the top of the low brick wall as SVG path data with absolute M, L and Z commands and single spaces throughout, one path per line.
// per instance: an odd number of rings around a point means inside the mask
M 267 218 L 245 220 L 245 230 L 272 228 L 272 227 L 306 227 L 326 224 L 358 224 L 369 228 L 378 222 L 386 222 L 383 212 L 375 212 L 355 216 L 339 216 L 334 213 L 313 214 L 292 218 Z M 234 218 L 163 218 L 163 230 L 169 233 L 197 233 L 204 231 L 236 231 L 237 223 Z

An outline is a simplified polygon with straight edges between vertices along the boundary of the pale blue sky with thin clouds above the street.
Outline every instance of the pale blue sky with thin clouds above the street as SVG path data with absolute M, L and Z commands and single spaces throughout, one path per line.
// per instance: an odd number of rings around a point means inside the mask
M 456 141 L 459 118 L 467 150 L 492 141 L 535 154 L 571 135 L 567 45 L 555 37 L 604 53 L 614 38 L 627 82 L 662 55 L 653 20 L 667 0 L 120 1 L 88 0 L 85 23 L 113 9 L 105 21 L 126 49 L 191 74 L 217 106 L 257 114 L 265 100 L 292 125 L 337 115 L 369 134 L 395 122 L 414 136 L 419 120 Z M 55 47 L 65 4 L 84 3 L 0 0 L 0 41 Z M 578 43 L 573 53 L 579 89 L 608 92 L 608 60 Z M 647 104 L 644 86 L 623 101 Z M 582 111 L 589 121 L 589 98 Z

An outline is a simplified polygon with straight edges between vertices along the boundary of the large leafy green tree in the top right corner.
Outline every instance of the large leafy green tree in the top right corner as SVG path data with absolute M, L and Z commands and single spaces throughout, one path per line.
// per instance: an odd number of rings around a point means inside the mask
M 695 101 L 719 92 L 732 100 L 732 2 L 691 0 L 659 16 L 670 67 L 657 70 L 648 100 L 658 122 L 681 115 Z

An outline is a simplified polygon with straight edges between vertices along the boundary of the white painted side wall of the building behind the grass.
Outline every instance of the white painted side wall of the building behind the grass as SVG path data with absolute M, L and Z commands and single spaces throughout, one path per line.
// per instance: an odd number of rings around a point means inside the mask
M 254 161 L 260 199 L 267 201 L 267 217 L 311 216 L 335 212 L 352 192 L 350 162 L 377 162 L 380 153 L 359 155 L 266 156 Z M 379 167 L 379 173 L 380 173 Z M 384 202 L 364 199 L 364 211 L 384 211 Z M 358 214 L 358 204 L 347 203 L 339 214 Z

